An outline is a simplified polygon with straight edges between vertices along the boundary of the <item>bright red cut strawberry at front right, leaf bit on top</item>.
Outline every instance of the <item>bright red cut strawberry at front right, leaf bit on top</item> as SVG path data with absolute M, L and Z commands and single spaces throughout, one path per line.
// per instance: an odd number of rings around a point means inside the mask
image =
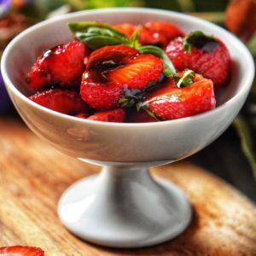
M 146 97 L 143 108 L 160 119 L 180 119 L 215 108 L 212 80 L 195 75 L 192 84 L 178 88 L 173 78 Z

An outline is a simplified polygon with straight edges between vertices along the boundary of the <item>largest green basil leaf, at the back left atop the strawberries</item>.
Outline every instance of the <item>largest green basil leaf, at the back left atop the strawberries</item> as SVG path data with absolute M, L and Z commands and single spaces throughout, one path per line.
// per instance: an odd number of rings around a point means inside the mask
M 96 21 L 79 21 L 68 23 L 75 38 L 86 44 L 90 49 L 99 49 L 106 45 L 130 45 L 130 39 L 108 24 Z

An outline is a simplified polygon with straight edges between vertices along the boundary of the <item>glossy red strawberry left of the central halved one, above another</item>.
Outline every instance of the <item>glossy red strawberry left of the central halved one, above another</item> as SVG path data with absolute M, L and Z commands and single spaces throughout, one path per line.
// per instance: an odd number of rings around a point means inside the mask
M 84 72 L 85 55 L 85 46 L 78 41 L 46 50 L 27 74 L 27 83 L 37 90 L 52 86 L 78 87 Z

